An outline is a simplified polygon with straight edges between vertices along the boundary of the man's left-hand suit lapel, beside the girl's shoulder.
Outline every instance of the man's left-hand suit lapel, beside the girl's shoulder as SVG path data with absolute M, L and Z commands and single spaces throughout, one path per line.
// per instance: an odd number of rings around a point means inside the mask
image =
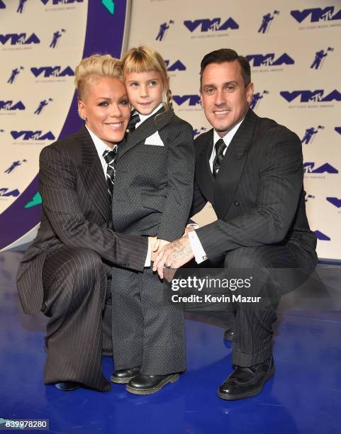
M 196 162 L 196 182 L 201 193 L 213 204 L 214 198 L 214 178 L 210 168 L 210 157 L 213 148 L 213 129 L 201 135 L 198 139 L 201 150 L 198 152 Z M 201 143 L 201 141 L 203 143 Z

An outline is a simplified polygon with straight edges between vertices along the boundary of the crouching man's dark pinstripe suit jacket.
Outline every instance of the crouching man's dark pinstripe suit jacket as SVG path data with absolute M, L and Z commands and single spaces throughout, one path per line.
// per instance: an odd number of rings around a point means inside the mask
M 216 179 L 209 166 L 213 130 L 201 134 L 195 146 L 191 215 L 210 201 L 218 216 L 196 230 L 208 259 L 238 247 L 294 243 L 316 262 L 316 238 L 306 217 L 302 146 L 295 133 L 249 109 Z

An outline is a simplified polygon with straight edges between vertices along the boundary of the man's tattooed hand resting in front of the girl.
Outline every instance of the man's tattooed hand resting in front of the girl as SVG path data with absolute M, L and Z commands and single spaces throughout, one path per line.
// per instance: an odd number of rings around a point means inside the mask
M 160 279 L 163 279 L 164 269 L 179 268 L 194 258 L 188 236 L 172 241 L 164 247 L 152 266 L 153 271 L 157 271 Z

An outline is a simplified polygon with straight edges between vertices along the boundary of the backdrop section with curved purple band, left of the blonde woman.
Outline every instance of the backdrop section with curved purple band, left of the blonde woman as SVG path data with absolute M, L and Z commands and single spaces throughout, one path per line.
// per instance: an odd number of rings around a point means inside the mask
M 35 236 L 40 151 L 82 125 L 74 68 L 121 57 L 129 16 L 125 0 L 0 0 L 0 250 Z

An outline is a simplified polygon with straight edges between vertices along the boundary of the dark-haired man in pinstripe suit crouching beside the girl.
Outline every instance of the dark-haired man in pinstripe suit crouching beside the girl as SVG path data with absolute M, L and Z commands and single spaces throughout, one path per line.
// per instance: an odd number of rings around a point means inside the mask
M 294 269 L 309 274 L 317 262 L 306 218 L 301 141 L 275 121 L 259 118 L 250 109 L 252 95 L 244 57 L 229 49 L 203 57 L 201 104 L 213 129 L 195 140 L 192 215 L 210 201 L 218 220 L 164 247 L 154 265 L 160 277 L 193 257 L 196 262 L 223 257 L 226 270 L 267 270 L 265 284 L 254 282 L 252 291 L 268 294 L 272 302 L 235 304 L 235 369 L 218 391 L 228 400 L 258 394 L 274 373 L 272 323 L 279 290 L 290 288 L 269 269 L 289 269 L 290 282 Z

